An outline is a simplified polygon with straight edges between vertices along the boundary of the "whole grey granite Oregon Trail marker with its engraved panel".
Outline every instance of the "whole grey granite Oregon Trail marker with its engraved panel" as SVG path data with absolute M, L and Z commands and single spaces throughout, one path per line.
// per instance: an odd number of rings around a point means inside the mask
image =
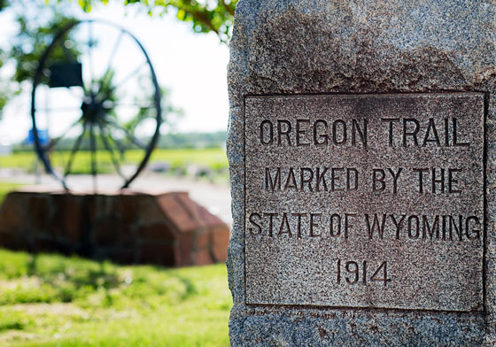
M 232 345 L 495 345 L 495 15 L 240 0 Z

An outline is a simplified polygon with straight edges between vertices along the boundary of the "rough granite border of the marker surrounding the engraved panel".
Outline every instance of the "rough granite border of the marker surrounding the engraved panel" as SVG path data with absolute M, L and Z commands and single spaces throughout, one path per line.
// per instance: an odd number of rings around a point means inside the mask
M 492 1 L 239 1 L 229 62 L 233 346 L 495 345 L 495 24 Z M 444 92 L 485 96 L 484 311 L 247 304 L 246 96 Z

